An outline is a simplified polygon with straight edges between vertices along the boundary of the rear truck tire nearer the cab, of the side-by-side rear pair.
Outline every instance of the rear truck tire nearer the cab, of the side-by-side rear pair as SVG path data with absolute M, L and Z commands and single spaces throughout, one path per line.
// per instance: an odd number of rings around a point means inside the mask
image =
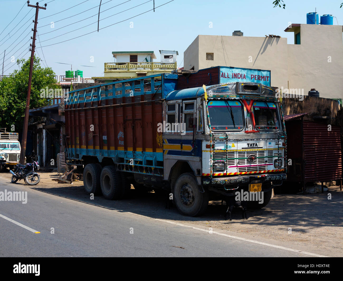
M 118 200 L 122 197 L 123 182 L 115 166 L 105 166 L 100 175 L 100 187 L 108 200 Z

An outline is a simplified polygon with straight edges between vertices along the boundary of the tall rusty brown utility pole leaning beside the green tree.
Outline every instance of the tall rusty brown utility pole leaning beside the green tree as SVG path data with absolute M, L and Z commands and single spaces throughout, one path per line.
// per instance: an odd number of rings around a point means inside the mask
M 30 5 L 30 1 L 27 1 L 27 7 L 36 8 L 36 17 L 35 17 L 35 26 L 32 29 L 33 37 L 31 46 L 31 59 L 30 59 L 30 72 L 28 74 L 28 84 L 27 84 L 27 97 L 26 97 L 26 107 L 25 107 L 25 116 L 24 116 L 24 125 L 23 125 L 23 136 L 20 150 L 20 164 L 25 163 L 25 152 L 26 152 L 26 138 L 27 138 L 27 126 L 28 126 L 28 110 L 30 107 L 30 94 L 31 94 L 31 81 L 32 81 L 32 69 L 33 69 L 33 59 L 35 55 L 35 41 L 36 41 L 36 32 L 37 32 L 37 20 L 38 20 L 38 11 L 39 9 L 46 10 L 47 4 L 44 4 L 44 7 L 39 7 L 38 2 L 36 5 Z

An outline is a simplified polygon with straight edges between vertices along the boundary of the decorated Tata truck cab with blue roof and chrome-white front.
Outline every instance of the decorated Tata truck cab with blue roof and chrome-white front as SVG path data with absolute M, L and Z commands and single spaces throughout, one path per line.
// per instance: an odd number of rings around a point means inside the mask
M 173 91 L 164 109 L 166 124 L 183 123 L 163 133 L 164 180 L 181 213 L 198 214 L 211 197 L 241 190 L 262 192 L 250 207 L 267 205 L 272 187 L 286 179 L 282 107 L 271 87 L 234 82 Z M 174 176 L 175 166 L 187 175 Z

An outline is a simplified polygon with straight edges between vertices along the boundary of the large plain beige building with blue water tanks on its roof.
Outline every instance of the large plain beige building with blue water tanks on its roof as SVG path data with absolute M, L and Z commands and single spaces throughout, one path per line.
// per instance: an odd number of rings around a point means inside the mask
M 343 97 L 342 25 L 292 24 L 287 38 L 198 35 L 184 52 L 184 69 L 212 66 L 271 70 L 271 85 Z

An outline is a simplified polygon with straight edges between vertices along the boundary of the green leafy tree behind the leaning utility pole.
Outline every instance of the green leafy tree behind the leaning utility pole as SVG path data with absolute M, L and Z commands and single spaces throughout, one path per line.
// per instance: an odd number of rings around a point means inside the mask
M 41 98 L 40 89 L 61 89 L 51 68 L 42 68 L 40 59 L 34 57 L 30 109 L 51 104 L 51 99 Z M 28 74 L 30 58 L 17 60 L 19 70 L 14 70 L 10 76 L 0 81 L 0 128 L 15 125 L 15 132 L 21 132 L 26 107 Z

